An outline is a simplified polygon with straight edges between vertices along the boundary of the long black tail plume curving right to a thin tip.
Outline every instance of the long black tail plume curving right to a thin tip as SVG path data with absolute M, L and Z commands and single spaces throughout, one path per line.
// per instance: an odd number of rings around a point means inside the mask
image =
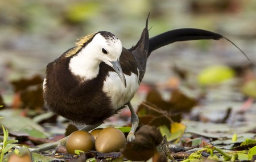
M 152 37 L 149 41 L 147 57 L 150 56 L 152 51 L 164 45 L 171 44 L 173 42 L 188 41 L 188 40 L 207 40 L 207 39 L 213 39 L 213 40 L 226 39 L 229 42 L 231 42 L 234 46 L 236 46 L 236 48 L 238 48 L 236 44 L 234 44 L 232 41 L 230 41 L 229 39 L 227 39 L 226 37 L 218 33 L 205 31 L 203 29 L 182 28 L 182 29 L 175 29 L 172 31 L 164 32 L 160 35 Z M 238 49 L 245 55 L 247 59 L 249 59 L 240 48 Z

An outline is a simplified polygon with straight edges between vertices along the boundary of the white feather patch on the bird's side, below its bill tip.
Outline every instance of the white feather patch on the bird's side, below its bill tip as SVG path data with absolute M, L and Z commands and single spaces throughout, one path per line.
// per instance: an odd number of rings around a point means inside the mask
M 112 99 L 114 109 L 119 109 L 129 103 L 139 87 L 139 79 L 136 74 L 125 75 L 125 79 L 126 87 L 117 73 L 109 72 L 109 76 L 104 82 L 103 91 Z

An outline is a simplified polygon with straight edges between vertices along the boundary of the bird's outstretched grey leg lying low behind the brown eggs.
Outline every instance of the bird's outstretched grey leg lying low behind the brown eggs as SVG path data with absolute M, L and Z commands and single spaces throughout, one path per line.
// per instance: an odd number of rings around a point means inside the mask
M 98 123 L 96 125 L 86 125 L 85 127 L 82 127 L 80 130 L 84 130 L 84 131 L 90 131 L 90 130 L 93 130 L 94 128 L 100 126 L 101 123 Z M 64 137 L 60 140 L 57 140 L 56 142 L 53 142 L 53 143 L 48 143 L 47 146 L 43 146 L 43 147 L 39 147 L 39 148 L 36 148 L 36 149 L 30 149 L 31 152 L 44 152 L 44 151 L 47 151 L 47 150 L 51 150 L 51 149 L 54 149 L 56 147 L 59 147 L 59 146 L 65 146 L 66 145 L 66 140 L 67 138 L 69 137 L 69 135 L 67 137 Z

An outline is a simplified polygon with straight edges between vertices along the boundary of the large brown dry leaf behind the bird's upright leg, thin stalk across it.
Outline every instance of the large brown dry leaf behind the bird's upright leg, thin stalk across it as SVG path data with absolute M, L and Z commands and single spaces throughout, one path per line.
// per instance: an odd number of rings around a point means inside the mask
M 146 101 L 139 105 L 137 114 L 139 121 L 144 125 L 166 125 L 171 128 L 171 122 L 180 122 L 181 113 L 189 112 L 197 101 L 191 99 L 180 91 L 172 92 L 170 101 L 165 101 L 158 91 L 148 92 Z

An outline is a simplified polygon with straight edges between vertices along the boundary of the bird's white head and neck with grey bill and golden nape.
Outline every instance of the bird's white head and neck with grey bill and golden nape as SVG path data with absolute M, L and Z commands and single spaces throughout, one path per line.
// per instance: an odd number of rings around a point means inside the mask
M 122 53 L 122 42 L 110 32 L 97 32 L 79 39 L 76 42 L 77 52 L 67 53 L 71 57 L 69 69 L 73 74 L 86 79 L 93 79 L 98 75 L 99 65 L 105 62 L 113 67 L 122 83 L 126 87 L 126 79 L 119 57 Z

